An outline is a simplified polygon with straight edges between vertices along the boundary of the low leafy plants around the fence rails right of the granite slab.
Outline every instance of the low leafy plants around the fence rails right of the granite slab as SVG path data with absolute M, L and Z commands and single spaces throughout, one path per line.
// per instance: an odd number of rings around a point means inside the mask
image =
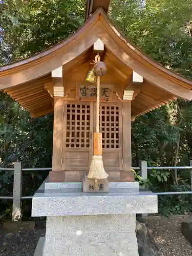
M 170 172 L 167 170 L 152 169 L 148 172 L 148 179 L 143 179 L 138 172 L 132 169 L 135 173 L 135 179 L 140 186 L 145 189 L 150 189 L 153 192 L 162 191 L 189 191 L 190 172 L 185 171 L 179 175 L 179 185 L 170 185 Z M 174 214 L 188 214 L 192 211 L 191 195 L 162 195 L 158 196 L 158 213 L 168 216 Z

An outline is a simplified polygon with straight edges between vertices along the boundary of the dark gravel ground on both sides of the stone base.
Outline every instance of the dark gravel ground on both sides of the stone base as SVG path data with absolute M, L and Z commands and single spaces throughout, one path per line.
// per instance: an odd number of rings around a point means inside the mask
M 180 232 L 183 217 L 145 217 L 145 225 L 159 251 L 156 256 L 191 256 L 192 246 Z M 0 256 L 33 256 L 39 237 L 45 235 L 44 225 L 34 222 L 6 222 L 0 228 Z

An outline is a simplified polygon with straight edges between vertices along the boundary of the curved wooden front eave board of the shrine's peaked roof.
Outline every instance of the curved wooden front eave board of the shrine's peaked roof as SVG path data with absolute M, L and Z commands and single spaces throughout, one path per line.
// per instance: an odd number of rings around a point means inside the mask
M 0 89 L 48 74 L 88 50 L 98 38 L 126 66 L 146 80 L 177 97 L 192 99 L 192 81 L 164 68 L 143 54 L 116 29 L 101 8 L 98 8 L 77 32 L 57 45 L 29 58 L 0 67 Z

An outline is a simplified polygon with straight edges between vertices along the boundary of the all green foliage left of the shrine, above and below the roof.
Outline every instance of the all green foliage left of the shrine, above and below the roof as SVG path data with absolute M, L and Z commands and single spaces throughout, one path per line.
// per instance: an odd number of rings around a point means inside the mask
M 0 65 L 45 50 L 74 33 L 84 21 L 84 1 L 0 1 Z M 0 94 L 0 166 L 50 167 L 52 163 L 53 114 L 31 119 L 22 106 Z M 23 173 L 23 195 L 33 195 L 48 172 Z M 0 196 L 12 196 L 12 172 L 0 173 Z M 30 215 L 25 202 L 25 215 Z M 0 212 L 10 209 L 2 201 Z M 7 216 L 7 215 L 6 215 Z

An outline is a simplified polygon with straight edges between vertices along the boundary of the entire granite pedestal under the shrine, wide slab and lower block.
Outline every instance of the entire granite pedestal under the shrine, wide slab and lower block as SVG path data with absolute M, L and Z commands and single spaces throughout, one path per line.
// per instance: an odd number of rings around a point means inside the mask
M 136 213 L 157 212 L 157 196 L 136 182 L 109 187 L 94 194 L 82 193 L 81 183 L 45 182 L 32 201 L 32 216 L 47 216 L 36 255 L 138 256 Z

